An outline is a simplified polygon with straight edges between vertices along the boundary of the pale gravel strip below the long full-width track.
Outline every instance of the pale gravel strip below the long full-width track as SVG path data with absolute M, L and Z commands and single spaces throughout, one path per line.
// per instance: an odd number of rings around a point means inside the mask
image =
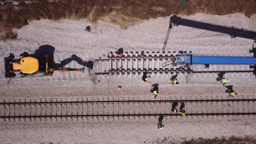
M 240 118 L 242 119 L 242 118 Z M 0 126 L 1 143 L 26 144 L 141 144 L 153 139 L 214 138 L 215 136 L 254 135 L 255 120 L 163 120 L 165 128 L 157 129 L 157 120 L 149 122 L 97 123 L 8 123 Z

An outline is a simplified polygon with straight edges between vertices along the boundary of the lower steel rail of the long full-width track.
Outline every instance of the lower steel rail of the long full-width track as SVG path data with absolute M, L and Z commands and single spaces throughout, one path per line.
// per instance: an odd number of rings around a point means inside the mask
M 181 114 L 131 114 L 131 115 L 45 115 L 45 116 L 0 116 L 0 118 L 59 118 L 59 117 L 134 117 L 134 116 L 180 116 Z M 241 113 L 189 113 L 186 116 L 208 116 L 208 115 L 256 115 L 255 112 Z

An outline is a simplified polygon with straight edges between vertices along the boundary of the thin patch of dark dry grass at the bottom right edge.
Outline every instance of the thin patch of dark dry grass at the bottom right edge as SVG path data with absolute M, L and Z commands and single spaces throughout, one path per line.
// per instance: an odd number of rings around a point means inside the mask
M 157 139 L 153 141 L 145 141 L 145 144 L 256 144 L 255 136 L 245 137 L 215 137 L 214 139 L 183 139 L 181 141 L 175 141 L 170 138 Z

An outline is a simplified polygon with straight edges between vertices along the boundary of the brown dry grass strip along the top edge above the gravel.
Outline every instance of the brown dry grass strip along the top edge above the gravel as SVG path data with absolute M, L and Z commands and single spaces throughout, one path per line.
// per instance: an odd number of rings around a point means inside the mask
M 33 0 L 31 0 L 33 1 Z M 11 35 L 13 28 L 21 28 L 28 20 L 83 19 L 92 22 L 99 19 L 119 24 L 124 29 L 144 19 L 171 14 L 230 14 L 256 13 L 256 0 L 59 0 L 48 3 L 0 5 L 0 28 L 3 35 Z M 10 37 L 3 37 L 1 40 Z

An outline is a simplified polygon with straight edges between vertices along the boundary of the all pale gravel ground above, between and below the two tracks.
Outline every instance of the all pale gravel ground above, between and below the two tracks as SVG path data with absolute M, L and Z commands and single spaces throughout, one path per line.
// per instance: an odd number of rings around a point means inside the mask
M 256 15 L 250 19 L 243 14 L 211 16 L 196 14 L 182 16 L 214 24 L 227 25 L 256 31 Z M 46 98 L 46 97 L 131 97 L 153 96 L 151 85 L 159 83 L 159 96 L 181 96 L 190 99 L 195 96 L 227 97 L 225 88 L 216 77 L 179 76 L 179 85 L 170 85 L 168 76 L 152 77 L 151 83 L 144 83 L 139 77 L 96 80 L 96 77 L 79 72 L 54 73 L 52 77 L 5 78 L 3 57 L 9 53 L 19 55 L 24 51 L 34 53 L 40 45 L 52 45 L 55 48 L 54 61 L 60 61 L 76 54 L 83 60 L 99 58 L 110 51 L 123 47 L 124 51 L 161 51 L 168 30 L 170 17 L 161 17 L 144 21 L 127 30 L 106 21 L 92 24 L 86 20 L 40 20 L 29 21 L 29 25 L 18 29 L 17 40 L 0 42 L 0 99 L 7 98 Z M 90 25 L 92 32 L 85 32 Z M 38 45 L 39 43 L 39 45 Z M 210 54 L 249 54 L 253 40 L 209 32 L 191 27 L 178 26 L 171 29 L 165 51 L 192 51 Z M 67 67 L 82 67 L 72 62 Z M 231 75 L 232 76 L 232 75 Z M 240 96 L 249 97 L 256 93 L 256 79 L 253 76 L 232 78 L 230 84 Z M 122 89 L 117 90 L 121 85 Z M 235 125 L 234 125 L 235 123 Z M 239 123 L 239 125 L 237 124 Z M 241 124 L 242 123 L 242 124 Z M 139 143 L 147 139 L 173 137 L 214 137 L 242 136 L 255 132 L 255 125 L 245 121 L 186 122 L 168 123 L 163 131 L 155 129 L 155 123 L 113 123 L 75 124 L 1 124 L 2 143 Z M 53 128 L 49 130 L 50 128 Z M 219 128 L 219 129 L 218 129 Z M 70 129 L 70 131 L 69 131 Z M 243 129 L 243 131 L 240 131 Z M 108 131 L 109 133 L 108 133 Z M 103 134 L 101 132 L 104 131 Z M 176 134 L 178 133 L 178 134 Z M 24 137 L 23 137 L 24 136 Z M 87 141 L 88 140 L 88 141 Z

